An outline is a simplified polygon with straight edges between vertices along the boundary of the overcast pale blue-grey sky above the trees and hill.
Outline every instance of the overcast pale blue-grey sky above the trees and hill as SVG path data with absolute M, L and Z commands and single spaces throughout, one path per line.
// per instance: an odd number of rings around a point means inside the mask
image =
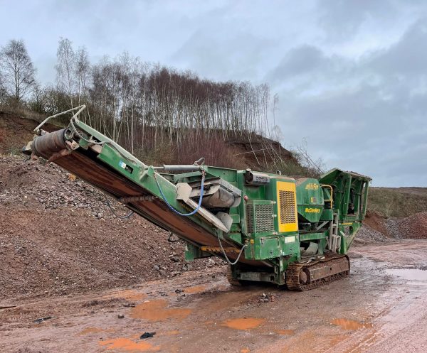
M 123 50 L 212 80 L 268 82 L 285 147 L 376 186 L 427 187 L 427 1 L 5 1 L 54 82 L 60 37 L 91 60 Z

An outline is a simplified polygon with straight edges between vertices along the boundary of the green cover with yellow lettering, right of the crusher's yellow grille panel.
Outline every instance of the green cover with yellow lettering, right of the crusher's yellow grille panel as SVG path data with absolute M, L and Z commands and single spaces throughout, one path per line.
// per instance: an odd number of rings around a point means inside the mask
M 297 179 L 297 210 L 298 218 L 303 221 L 319 222 L 325 201 L 323 190 L 317 179 Z

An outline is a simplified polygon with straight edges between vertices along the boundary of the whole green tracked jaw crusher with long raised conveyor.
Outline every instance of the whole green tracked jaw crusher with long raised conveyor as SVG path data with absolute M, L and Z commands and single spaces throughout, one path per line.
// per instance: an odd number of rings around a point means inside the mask
M 50 118 L 43 121 L 23 152 L 60 165 L 178 235 L 187 261 L 225 259 L 232 284 L 308 290 L 348 276 L 346 254 L 367 210 L 371 178 L 332 169 L 319 180 L 295 180 L 202 160 L 146 165 L 80 121 L 84 108 L 71 109 L 65 129 L 48 133 L 41 126 Z

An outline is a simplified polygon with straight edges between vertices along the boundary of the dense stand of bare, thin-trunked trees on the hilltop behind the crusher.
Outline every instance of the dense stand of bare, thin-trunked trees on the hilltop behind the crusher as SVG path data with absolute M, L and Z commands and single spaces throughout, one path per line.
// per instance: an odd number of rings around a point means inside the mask
M 137 155 L 167 151 L 165 158 L 187 161 L 197 156 L 186 151 L 201 153 L 199 146 L 236 139 L 254 144 L 260 167 L 280 160 L 274 141 L 259 146 L 259 135 L 270 136 L 268 85 L 201 79 L 193 72 L 142 63 L 126 52 L 91 65 L 87 50 L 74 51 L 65 38 L 57 57 L 57 87 L 33 97 L 34 107 L 46 114 L 86 104 L 90 125 Z

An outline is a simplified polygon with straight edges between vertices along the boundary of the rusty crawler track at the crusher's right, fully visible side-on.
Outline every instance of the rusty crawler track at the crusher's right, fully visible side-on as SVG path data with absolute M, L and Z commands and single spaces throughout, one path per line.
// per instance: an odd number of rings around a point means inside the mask
M 325 272 L 330 271 L 330 274 L 312 279 L 315 276 L 310 275 L 320 269 Z M 349 273 L 350 261 L 347 255 L 327 257 L 307 264 L 293 263 L 286 270 L 286 286 L 289 290 L 310 290 L 347 277 Z

